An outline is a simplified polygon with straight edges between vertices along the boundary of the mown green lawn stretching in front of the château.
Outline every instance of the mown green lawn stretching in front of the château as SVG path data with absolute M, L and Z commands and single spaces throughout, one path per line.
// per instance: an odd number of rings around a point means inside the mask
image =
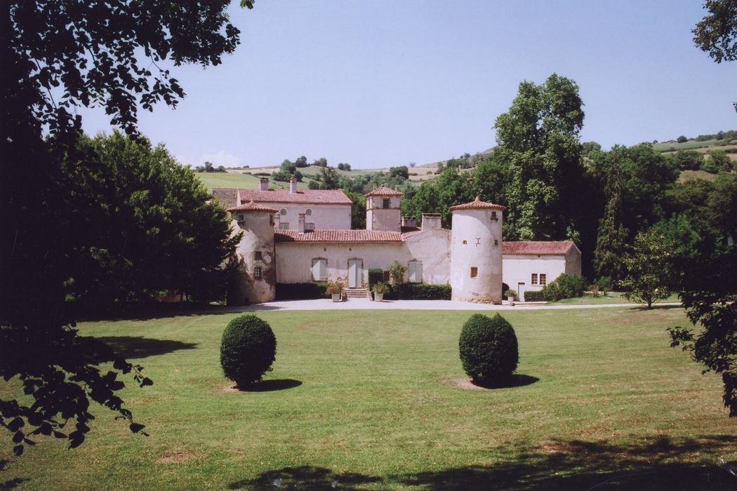
M 16 459 L 4 435 L 0 489 L 733 489 L 719 378 L 668 347 L 682 309 L 505 312 L 520 377 L 495 390 L 456 384 L 471 314 L 264 312 L 279 344 L 262 392 L 220 372 L 234 314 L 83 323 L 155 381 L 123 391 L 150 437 L 100 409 L 72 451 Z

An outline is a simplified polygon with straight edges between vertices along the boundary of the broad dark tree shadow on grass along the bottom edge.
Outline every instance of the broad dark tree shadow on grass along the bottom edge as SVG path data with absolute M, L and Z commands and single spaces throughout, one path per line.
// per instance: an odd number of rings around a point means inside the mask
M 490 465 L 469 465 L 392 476 L 334 473 L 324 467 L 284 467 L 230 489 L 364 489 L 418 487 L 422 490 L 734 490 L 737 477 L 719 456 L 737 451 L 737 437 L 707 435 L 638 438 L 618 445 L 602 440 L 553 440 L 531 447 L 495 449 Z M 689 462 L 696 461 L 696 462 Z

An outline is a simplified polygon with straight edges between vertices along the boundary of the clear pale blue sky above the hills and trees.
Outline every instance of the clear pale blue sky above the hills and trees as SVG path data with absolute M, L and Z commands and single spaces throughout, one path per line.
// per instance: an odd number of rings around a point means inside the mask
M 737 63 L 694 46 L 697 0 L 238 3 L 236 52 L 174 68 L 186 97 L 139 112 L 181 163 L 371 169 L 483 152 L 520 82 L 553 73 L 579 86 L 581 141 L 605 149 L 737 130 Z M 111 131 L 102 110 L 84 121 Z

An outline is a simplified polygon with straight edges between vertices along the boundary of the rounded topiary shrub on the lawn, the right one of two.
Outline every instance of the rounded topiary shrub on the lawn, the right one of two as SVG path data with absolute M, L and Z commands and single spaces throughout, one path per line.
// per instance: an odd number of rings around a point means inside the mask
M 499 314 L 472 315 L 461 328 L 458 350 L 466 373 L 483 386 L 509 383 L 520 359 L 514 328 Z

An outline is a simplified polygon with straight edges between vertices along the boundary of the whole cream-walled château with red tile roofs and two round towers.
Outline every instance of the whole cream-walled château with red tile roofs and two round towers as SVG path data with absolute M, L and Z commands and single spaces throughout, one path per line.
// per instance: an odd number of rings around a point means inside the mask
M 453 227 L 425 213 L 417 227 L 402 218 L 402 193 L 366 194 L 366 230 L 351 230 L 351 200 L 343 191 L 215 188 L 214 199 L 243 233 L 237 247 L 240 282 L 228 303 L 276 297 L 276 283 L 341 280 L 349 288 L 368 281 L 368 269 L 408 267 L 412 283 L 450 283 L 453 300 L 500 303 L 504 289 L 542 288 L 562 272 L 581 274 L 573 242 L 503 242 L 502 205 L 473 202 L 450 208 Z M 542 282 L 542 283 L 541 283 Z

